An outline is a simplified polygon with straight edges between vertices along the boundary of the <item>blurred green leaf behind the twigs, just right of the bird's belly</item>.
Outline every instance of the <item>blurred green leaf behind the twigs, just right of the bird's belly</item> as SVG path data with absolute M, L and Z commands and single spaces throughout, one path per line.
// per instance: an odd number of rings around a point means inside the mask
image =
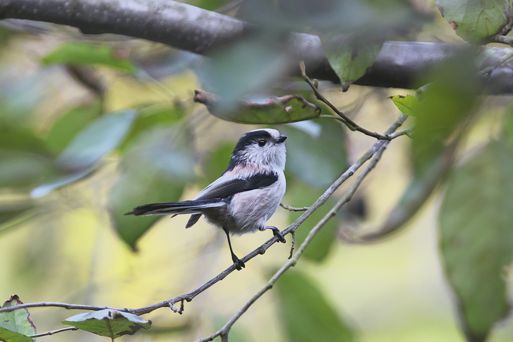
M 324 190 L 313 189 L 308 185 L 302 184 L 298 181 L 292 183 L 287 187 L 286 203 L 290 206 L 303 207 L 310 206 L 313 202 L 324 193 Z M 306 239 L 306 236 L 330 210 L 334 202 L 328 200 L 326 204 L 316 210 L 310 217 L 306 219 L 303 224 L 295 231 L 295 242 L 299 246 Z M 294 222 L 303 214 L 303 212 L 289 212 L 289 223 Z M 315 261 L 322 262 L 329 255 L 336 241 L 335 234 L 337 233 L 337 217 L 329 220 L 323 228 L 315 235 L 315 238 L 310 242 L 303 254 L 303 257 Z

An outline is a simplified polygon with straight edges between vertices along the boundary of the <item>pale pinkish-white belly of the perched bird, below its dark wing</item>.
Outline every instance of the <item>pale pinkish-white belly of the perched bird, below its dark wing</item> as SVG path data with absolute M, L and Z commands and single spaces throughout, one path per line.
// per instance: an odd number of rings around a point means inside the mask
M 235 226 L 230 233 L 240 235 L 264 230 L 265 223 L 274 214 L 285 195 L 285 176 L 278 175 L 278 181 L 270 186 L 233 195 L 230 214 Z

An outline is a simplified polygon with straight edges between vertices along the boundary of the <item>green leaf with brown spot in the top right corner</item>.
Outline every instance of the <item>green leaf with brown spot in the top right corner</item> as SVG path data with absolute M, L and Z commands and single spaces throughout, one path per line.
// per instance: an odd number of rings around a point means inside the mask
M 507 0 L 437 0 L 438 8 L 456 33 L 472 44 L 485 44 L 511 16 Z

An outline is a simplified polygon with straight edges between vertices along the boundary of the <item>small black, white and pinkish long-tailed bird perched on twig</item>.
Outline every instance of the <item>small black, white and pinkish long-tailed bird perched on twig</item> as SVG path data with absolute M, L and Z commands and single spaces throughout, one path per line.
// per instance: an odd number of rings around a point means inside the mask
M 151 203 L 133 208 L 125 215 L 192 214 L 185 228 L 203 215 L 208 223 L 222 229 L 228 239 L 237 270 L 244 261 L 233 252 L 230 235 L 271 230 L 278 240 L 284 236 L 266 222 L 285 195 L 284 175 L 287 136 L 276 129 L 255 129 L 244 134 L 235 145 L 225 172 L 190 201 Z

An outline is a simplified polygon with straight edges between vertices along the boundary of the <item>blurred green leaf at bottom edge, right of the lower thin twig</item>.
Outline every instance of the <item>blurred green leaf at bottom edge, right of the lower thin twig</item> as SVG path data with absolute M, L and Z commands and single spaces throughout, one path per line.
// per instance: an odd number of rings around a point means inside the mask
M 288 270 L 273 287 L 278 291 L 288 339 L 293 342 L 349 342 L 351 328 L 321 291 L 300 272 Z

